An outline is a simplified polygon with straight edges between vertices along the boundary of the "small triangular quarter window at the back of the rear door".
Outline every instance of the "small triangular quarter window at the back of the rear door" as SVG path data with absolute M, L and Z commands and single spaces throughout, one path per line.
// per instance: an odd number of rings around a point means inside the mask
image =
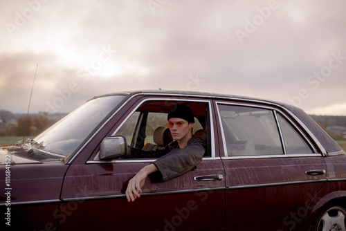
M 304 141 L 302 136 L 293 129 L 291 124 L 278 114 L 277 118 L 280 122 L 280 128 L 282 131 L 282 136 L 284 138 L 284 145 L 286 148 L 286 154 L 312 154 L 313 151 L 307 145 L 307 142 Z

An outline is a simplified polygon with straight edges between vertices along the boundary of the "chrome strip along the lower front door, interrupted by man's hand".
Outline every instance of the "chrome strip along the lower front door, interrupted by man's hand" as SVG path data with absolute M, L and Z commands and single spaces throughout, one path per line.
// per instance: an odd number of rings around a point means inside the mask
M 140 193 L 140 196 L 156 196 L 156 195 L 160 196 L 160 195 L 167 195 L 167 194 L 182 194 L 182 193 L 189 193 L 189 192 L 218 191 L 218 190 L 226 190 L 226 187 L 208 187 L 203 189 L 172 190 L 172 191 L 165 191 L 165 192 L 143 192 L 143 193 Z M 62 202 L 111 199 L 111 198 L 122 198 L 122 197 L 126 197 L 126 195 L 117 194 L 117 195 L 107 195 L 107 196 L 85 196 L 85 197 L 78 197 L 78 198 L 63 198 Z

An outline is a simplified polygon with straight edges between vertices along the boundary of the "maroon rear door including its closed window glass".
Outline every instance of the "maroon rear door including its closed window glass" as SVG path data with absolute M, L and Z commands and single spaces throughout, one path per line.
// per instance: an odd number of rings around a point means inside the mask
M 228 230 L 293 230 L 325 185 L 325 162 L 271 105 L 216 102 Z

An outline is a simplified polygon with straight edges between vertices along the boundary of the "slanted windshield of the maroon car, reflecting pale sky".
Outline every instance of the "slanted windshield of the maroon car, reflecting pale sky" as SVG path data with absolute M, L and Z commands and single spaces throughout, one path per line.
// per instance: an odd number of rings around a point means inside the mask
M 35 143 L 39 150 L 69 156 L 123 98 L 111 95 L 86 102 L 34 138 Z

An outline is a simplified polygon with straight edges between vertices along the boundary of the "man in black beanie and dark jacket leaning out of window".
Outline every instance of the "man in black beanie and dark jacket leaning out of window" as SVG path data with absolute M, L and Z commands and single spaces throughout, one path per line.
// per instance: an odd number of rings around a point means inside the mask
M 190 107 L 176 105 L 167 116 L 168 127 L 175 140 L 163 149 L 143 151 L 130 148 L 129 158 L 158 158 L 154 163 L 146 165 L 129 181 L 126 190 L 127 201 L 140 197 L 141 188 L 149 174 L 159 172 L 161 181 L 190 172 L 202 160 L 206 151 L 206 143 L 201 138 L 192 136 L 194 115 Z

